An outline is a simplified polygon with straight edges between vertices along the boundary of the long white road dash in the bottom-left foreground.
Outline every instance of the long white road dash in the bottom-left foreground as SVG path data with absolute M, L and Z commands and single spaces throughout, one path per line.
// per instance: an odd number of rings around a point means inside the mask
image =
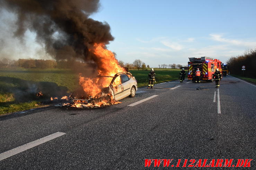
M 56 132 L 56 133 L 50 134 L 46 137 L 43 137 L 43 138 L 37 139 L 35 141 L 32 141 L 32 142 L 26 143 L 24 145 L 21 145 L 17 148 L 14 148 L 14 149 L 8 150 L 6 152 L 0 153 L 0 161 L 3 160 L 3 159 L 9 158 L 11 156 L 14 156 L 17 153 L 20 153 L 20 152 L 23 152 L 23 151 L 28 150 L 30 148 L 33 148 L 33 147 L 35 147 L 39 144 L 50 141 L 54 138 L 58 138 L 58 137 L 62 136 L 63 134 L 66 134 L 66 133 Z

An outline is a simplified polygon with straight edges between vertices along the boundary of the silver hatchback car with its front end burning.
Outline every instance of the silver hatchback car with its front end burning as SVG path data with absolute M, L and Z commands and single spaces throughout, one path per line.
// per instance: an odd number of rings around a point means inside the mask
M 111 83 L 108 87 L 102 90 L 102 96 L 111 94 L 112 99 L 115 101 L 121 100 L 125 97 L 135 97 L 135 93 L 138 90 L 137 81 L 130 72 L 116 73 L 115 76 L 102 76 L 111 77 Z

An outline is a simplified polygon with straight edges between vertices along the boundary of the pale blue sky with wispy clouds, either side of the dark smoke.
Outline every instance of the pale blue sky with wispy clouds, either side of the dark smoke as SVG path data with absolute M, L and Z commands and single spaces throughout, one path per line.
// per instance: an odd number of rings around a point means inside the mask
M 256 47 L 256 0 L 100 0 L 100 4 L 90 17 L 110 25 L 115 40 L 107 47 L 124 62 L 185 65 L 188 57 L 202 56 L 226 62 Z M 20 44 L 12 34 L 15 28 L 7 26 L 14 22 L 14 14 L 2 11 L 0 38 L 6 46 L 0 42 L 1 57 L 50 58 L 32 32 L 27 31 Z

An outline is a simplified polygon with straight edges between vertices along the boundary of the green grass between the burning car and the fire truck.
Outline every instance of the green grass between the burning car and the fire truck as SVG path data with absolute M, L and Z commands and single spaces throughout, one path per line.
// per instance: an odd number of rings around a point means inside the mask
M 166 81 L 178 80 L 180 69 L 154 69 L 156 72 L 156 83 L 162 83 Z M 138 82 L 138 87 L 147 86 L 148 85 L 148 73 L 149 70 L 130 70 L 132 75 Z M 147 82 L 146 82 L 147 80 Z

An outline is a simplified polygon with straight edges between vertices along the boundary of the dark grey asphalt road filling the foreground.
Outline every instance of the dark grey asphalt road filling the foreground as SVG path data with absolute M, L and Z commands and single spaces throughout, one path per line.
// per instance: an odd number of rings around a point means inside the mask
M 215 83 L 167 82 L 121 102 L 0 117 L 0 153 L 63 132 L 0 160 L 0 169 L 155 169 L 145 159 L 254 159 L 245 169 L 255 169 L 255 85 L 227 76 L 218 97 Z

